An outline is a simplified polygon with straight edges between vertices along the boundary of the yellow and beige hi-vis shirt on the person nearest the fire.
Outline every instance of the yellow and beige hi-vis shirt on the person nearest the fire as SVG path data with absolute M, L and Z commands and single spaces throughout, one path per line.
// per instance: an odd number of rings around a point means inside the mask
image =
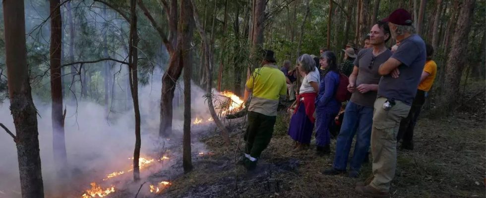
M 248 111 L 268 116 L 277 115 L 279 98 L 287 95 L 285 75 L 277 66 L 264 65 L 255 69 L 246 81 L 246 87 L 253 90 Z

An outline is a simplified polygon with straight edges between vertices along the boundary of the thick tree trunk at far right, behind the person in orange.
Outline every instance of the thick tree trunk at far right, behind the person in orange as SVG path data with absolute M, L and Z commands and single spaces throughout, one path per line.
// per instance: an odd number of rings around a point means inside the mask
M 454 35 L 451 42 L 451 51 L 445 68 L 444 83 L 448 85 L 443 89 L 439 107 L 443 112 L 451 112 L 452 107 L 457 104 L 459 84 L 461 82 L 462 71 L 467 62 L 467 41 L 471 29 L 471 21 L 475 7 L 475 0 L 464 0 L 458 7 L 458 18 Z

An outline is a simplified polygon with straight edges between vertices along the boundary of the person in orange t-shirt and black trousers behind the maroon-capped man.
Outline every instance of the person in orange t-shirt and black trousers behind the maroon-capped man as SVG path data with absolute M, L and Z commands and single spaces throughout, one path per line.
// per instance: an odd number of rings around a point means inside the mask
M 400 129 L 398 130 L 397 142 L 400 142 L 400 139 L 403 139 L 401 145 L 402 149 L 414 149 L 414 127 L 419 118 L 422 105 L 425 103 L 425 93 L 432 88 L 435 74 L 437 74 L 437 64 L 432 60 L 434 49 L 429 44 L 425 45 L 425 49 L 427 51 L 427 59 L 424 71 L 422 71 L 422 76 L 420 77 L 419 88 L 417 89 L 417 94 L 412 102 L 410 112 L 408 113 L 408 116 L 400 122 Z

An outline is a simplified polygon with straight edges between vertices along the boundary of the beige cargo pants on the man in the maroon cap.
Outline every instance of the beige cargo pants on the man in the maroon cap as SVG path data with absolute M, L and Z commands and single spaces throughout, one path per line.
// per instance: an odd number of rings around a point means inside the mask
M 373 155 L 373 181 L 369 185 L 382 192 L 390 191 L 397 165 L 397 133 L 400 121 L 407 117 L 410 106 L 395 100 L 390 110 L 383 109 L 386 98 L 374 102 L 371 129 L 371 153 Z

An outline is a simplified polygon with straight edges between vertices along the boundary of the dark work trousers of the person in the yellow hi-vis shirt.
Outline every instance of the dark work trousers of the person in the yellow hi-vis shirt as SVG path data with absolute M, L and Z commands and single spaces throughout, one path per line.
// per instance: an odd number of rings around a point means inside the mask
M 273 126 L 277 116 L 268 116 L 248 111 L 248 128 L 244 134 L 246 142 L 244 152 L 254 158 L 259 158 L 272 139 Z

